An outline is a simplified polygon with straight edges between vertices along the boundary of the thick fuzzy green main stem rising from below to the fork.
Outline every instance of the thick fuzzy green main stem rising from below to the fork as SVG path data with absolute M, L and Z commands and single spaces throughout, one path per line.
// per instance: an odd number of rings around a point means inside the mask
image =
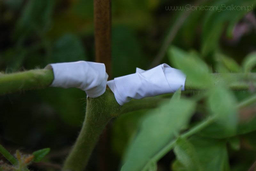
M 86 114 L 81 132 L 69 153 L 62 170 L 82 171 L 85 169 L 92 150 L 108 121 L 116 116 L 121 106 L 111 90 L 97 98 L 87 98 Z

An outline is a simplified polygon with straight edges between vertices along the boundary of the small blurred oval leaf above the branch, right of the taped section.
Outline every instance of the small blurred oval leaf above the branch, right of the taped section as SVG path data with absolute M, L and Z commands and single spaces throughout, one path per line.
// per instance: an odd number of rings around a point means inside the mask
M 228 56 L 217 53 L 215 54 L 215 58 L 217 61 L 222 63 L 230 72 L 240 72 L 240 66 L 236 63 L 236 61 Z

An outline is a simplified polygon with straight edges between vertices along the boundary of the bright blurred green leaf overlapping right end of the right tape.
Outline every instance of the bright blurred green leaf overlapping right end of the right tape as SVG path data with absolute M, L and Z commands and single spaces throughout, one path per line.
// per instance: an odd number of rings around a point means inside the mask
M 212 84 L 208 66 L 195 53 L 186 53 L 172 46 L 169 49 L 169 59 L 187 75 L 186 81 L 189 81 L 191 86 L 203 88 Z

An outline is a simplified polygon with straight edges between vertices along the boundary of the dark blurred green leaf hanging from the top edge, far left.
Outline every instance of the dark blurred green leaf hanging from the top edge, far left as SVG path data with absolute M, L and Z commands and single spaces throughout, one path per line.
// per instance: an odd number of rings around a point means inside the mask
M 15 37 L 42 35 L 50 29 L 55 0 L 29 0 L 15 28 Z

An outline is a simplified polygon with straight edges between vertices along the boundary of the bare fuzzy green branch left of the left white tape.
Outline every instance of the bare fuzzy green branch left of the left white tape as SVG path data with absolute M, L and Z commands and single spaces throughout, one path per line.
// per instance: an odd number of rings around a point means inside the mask
M 29 70 L 11 74 L 0 73 L 0 95 L 18 91 L 48 87 L 53 80 L 53 71 Z

